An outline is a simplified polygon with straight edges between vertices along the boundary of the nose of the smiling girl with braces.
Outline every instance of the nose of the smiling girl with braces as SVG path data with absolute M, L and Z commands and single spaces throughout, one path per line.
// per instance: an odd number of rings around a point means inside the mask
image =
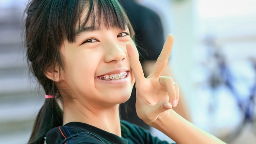
M 106 54 L 104 57 L 104 61 L 106 63 L 110 63 L 110 62 L 119 63 L 124 59 L 126 59 L 126 53 L 125 51 L 123 51 L 123 49 L 120 46 L 116 44 L 108 45 L 106 49 Z

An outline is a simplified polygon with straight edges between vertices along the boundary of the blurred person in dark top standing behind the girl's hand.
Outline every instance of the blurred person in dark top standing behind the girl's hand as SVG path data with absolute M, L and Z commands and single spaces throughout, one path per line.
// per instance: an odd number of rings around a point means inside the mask
M 135 30 L 135 41 L 141 55 L 141 64 L 145 73 L 145 77 L 149 75 L 156 63 L 156 59 L 161 53 L 161 47 L 164 45 L 164 30 L 161 19 L 156 12 L 145 6 L 138 4 L 135 0 L 119 0 L 126 10 L 127 15 Z M 170 65 L 170 63 L 168 63 Z M 163 76 L 173 77 L 171 67 L 167 66 L 162 73 Z M 180 92 L 181 93 L 181 92 Z M 189 111 L 183 96 L 179 100 L 179 105 L 173 108 L 183 118 L 191 121 Z M 121 105 L 121 118 L 131 123 L 149 129 L 149 125 L 145 124 L 136 114 L 136 89 L 133 88 L 132 95 L 126 105 Z

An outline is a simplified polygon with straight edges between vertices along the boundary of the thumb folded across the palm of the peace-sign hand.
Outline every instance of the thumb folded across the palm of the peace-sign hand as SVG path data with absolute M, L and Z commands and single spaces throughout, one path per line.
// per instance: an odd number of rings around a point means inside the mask
M 158 115 L 160 114 L 161 112 L 164 112 L 168 109 L 171 109 L 172 108 L 172 105 L 170 102 L 166 102 L 166 101 L 161 101 L 159 103 L 157 103 L 156 105 L 154 105 L 151 109 L 151 112 L 153 115 Z

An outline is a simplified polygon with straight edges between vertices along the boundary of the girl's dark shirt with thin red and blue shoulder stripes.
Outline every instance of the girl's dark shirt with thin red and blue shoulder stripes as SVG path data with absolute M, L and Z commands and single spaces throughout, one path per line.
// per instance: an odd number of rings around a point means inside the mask
M 168 144 L 147 130 L 121 120 L 122 137 L 80 122 L 53 128 L 46 134 L 47 144 Z

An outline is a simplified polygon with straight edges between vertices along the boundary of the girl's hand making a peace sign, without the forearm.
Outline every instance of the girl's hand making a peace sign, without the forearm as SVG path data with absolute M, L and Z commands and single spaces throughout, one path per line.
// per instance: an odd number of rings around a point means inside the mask
M 135 46 L 127 44 L 130 65 L 136 81 L 136 112 L 145 123 L 168 115 L 168 109 L 175 107 L 179 100 L 178 85 L 171 77 L 160 76 L 168 63 L 173 45 L 173 36 L 168 35 L 152 72 L 147 78 L 136 55 Z

